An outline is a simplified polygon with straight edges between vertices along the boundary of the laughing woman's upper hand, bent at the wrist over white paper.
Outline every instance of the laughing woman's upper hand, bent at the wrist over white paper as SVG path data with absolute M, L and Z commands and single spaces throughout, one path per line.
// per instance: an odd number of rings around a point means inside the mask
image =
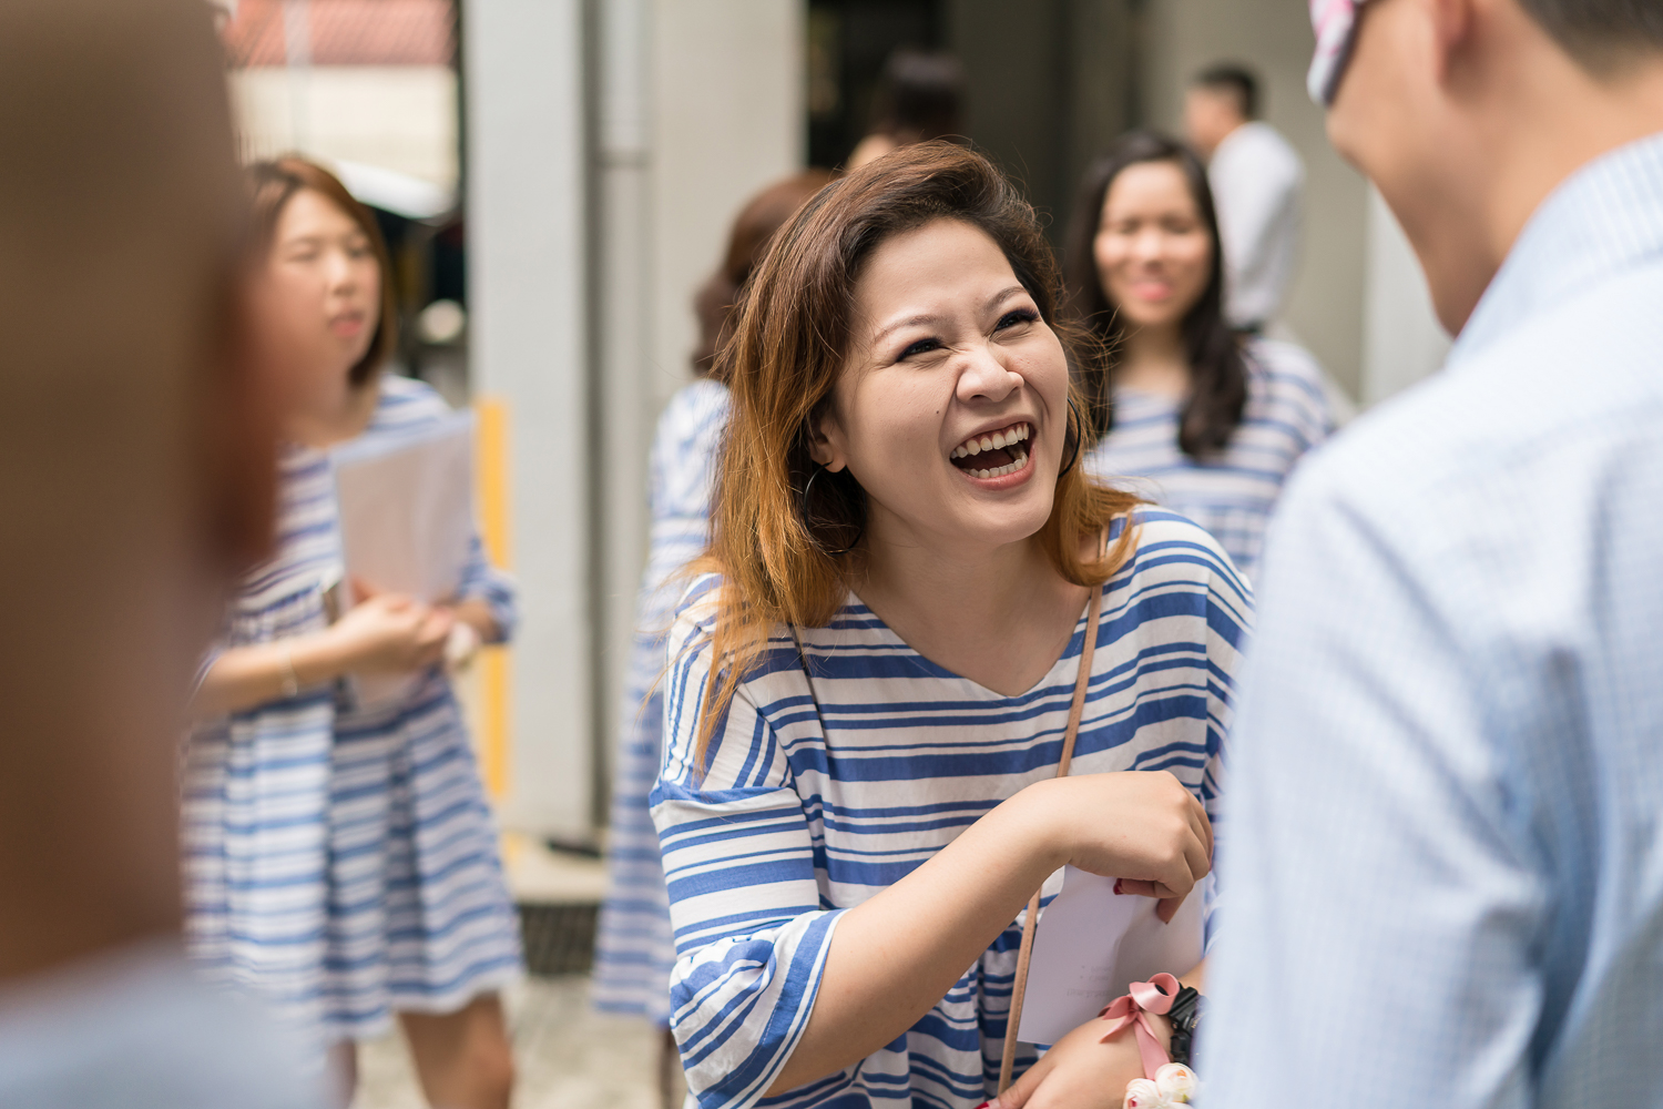
M 1171 921 L 1212 870 L 1207 810 L 1164 770 L 1051 778 L 1023 790 L 1064 863 L 1119 878 L 1119 891 L 1161 898 Z

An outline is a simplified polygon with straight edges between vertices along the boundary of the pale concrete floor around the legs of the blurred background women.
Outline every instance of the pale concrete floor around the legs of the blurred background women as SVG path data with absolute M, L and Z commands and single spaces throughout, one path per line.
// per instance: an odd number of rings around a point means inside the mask
M 514 1109 L 659 1109 L 657 1033 L 589 1008 L 589 979 L 530 978 L 506 998 L 519 1087 Z M 353 1109 L 426 1109 L 404 1041 L 359 1052 Z

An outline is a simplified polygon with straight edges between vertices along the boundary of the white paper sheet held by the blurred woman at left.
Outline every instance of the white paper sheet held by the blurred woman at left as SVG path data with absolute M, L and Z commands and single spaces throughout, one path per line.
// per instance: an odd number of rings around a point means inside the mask
M 424 602 L 454 597 L 474 532 L 474 416 L 356 439 L 331 461 L 348 582 Z M 382 703 L 412 682 L 359 677 L 358 698 Z

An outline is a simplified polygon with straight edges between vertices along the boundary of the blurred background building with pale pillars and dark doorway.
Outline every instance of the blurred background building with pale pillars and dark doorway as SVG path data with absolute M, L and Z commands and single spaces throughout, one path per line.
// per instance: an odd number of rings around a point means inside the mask
M 1058 236 L 1134 125 L 1229 58 L 1305 161 L 1284 324 L 1369 404 L 1445 338 L 1407 244 L 1329 148 L 1289 0 L 221 0 L 244 153 L 343 173 L 394 248 L 401 361 L 482 412 L 482 507 L 524 635 L 479 690 L 504 823 L 594 848 L 645 552 L 645 452 L 695 288 L 752 193 L 836 166 L 896 48 L 965 73 L 961 126 Z M 494 677 L 492 677 L 494 675 Z

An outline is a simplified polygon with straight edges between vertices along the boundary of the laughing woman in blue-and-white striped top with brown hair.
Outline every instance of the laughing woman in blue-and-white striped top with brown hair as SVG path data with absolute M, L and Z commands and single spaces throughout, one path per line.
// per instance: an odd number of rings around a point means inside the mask
M 1028 896 L 1071 863 L 1169 914 L 1211 866 L 1251 602 L 1074 464 L 1058 296 L 1033 209 L 926 143 L 822 190 L 740 304 L 654 795 L 705 1109 L 980 1106 Z M 1121 1104 L 1104 1031 L 1033 1106 Z

